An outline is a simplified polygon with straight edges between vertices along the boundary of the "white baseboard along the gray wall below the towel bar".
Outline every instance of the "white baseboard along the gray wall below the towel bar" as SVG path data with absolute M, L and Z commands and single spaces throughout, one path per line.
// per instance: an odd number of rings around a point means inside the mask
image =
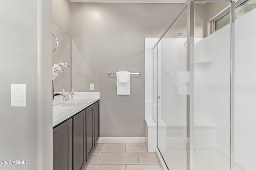
M 145 137 L 100 137 L 97 143 L 145 143 Z

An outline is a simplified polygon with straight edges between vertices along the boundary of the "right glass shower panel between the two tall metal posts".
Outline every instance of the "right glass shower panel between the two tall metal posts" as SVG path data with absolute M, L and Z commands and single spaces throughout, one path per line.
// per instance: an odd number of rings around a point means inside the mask
M 205 4 L 212 8 L 206 21 L 230 9 L 230 2 Z M 195 12 L 204 8 L 195 2 Z M 194 170 L 230 170 L 231 29 L 205 32 L 202 15 L 195 15 L 194 33 Z

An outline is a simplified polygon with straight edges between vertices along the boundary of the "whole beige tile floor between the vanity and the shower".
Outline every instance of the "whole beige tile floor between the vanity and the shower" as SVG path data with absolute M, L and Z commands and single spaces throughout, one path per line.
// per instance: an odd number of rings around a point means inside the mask
M 83 170 L 162 170 L 145 143 L 99 143 Z

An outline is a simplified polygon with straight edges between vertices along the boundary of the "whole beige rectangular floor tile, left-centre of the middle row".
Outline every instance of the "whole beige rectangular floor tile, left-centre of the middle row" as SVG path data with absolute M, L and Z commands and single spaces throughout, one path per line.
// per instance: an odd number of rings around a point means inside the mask
M 103 152 L 99 165 L 139 164 L 137 152 Z

